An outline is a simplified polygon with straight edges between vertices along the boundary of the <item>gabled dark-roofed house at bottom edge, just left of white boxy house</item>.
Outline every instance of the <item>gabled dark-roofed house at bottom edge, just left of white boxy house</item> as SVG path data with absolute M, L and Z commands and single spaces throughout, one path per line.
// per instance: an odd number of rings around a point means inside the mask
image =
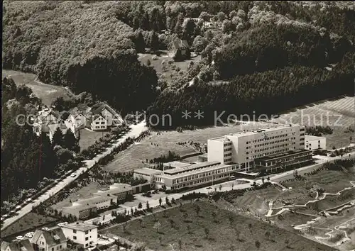
M 60 251 L 67 248 L 67 238 L 58 226 L 49 230 L 35 230 L 30 241 L 34 250 L 38 251 Z

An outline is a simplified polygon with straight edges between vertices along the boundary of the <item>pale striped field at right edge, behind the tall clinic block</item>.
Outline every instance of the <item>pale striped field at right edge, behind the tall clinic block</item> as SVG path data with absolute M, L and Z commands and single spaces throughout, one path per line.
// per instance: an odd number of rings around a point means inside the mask
M 325 135 L 327 138 L 327 149 L 333 146 L 339 148 L 349 145 L 351 133 L 344 133 L 349 126 L 355 128 L 355 97 L 345 96 L 332 101 L 320 101 L 309 104 L 304 108 L 297 108 L 294 111 L 280 115 L 273 121 L 278 123 L 299 123 L 306 126 L 329 125 L 333 133 Z M 352 135 L 354 141 L 354 135 Z

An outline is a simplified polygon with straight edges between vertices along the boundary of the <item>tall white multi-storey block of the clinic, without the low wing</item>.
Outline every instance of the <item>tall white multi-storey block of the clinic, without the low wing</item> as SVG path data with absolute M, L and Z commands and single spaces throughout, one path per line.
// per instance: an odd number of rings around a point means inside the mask
M 256 158 L 305 149 L 305 126 L 288 125 L 232 133 L 207 141 L 208 161 L 238 163 L 249 171 Z

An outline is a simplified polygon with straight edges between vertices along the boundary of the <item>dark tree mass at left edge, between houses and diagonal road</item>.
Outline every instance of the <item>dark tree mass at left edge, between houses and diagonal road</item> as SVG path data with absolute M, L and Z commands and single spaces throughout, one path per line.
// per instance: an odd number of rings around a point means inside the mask
M 35 111 L 40 100 L 31 95 L 28 87 L 16 87 L 13 79 L 4 78 L 1 84 L 1 204 L 9 195 L 42 188 L 45 179 L 53 179 L 76 166 L 72 150 L 77 140 L 68 130 L 65 135 L 55 132 L 53 142 L 43 133 L 33 133 L 25 119 Z M 24 115 L 18 117 L 18 115 Z M 21 199 L 21 198 L 20 198 Z M 9 206 L 9 205 L 7 205 Z

